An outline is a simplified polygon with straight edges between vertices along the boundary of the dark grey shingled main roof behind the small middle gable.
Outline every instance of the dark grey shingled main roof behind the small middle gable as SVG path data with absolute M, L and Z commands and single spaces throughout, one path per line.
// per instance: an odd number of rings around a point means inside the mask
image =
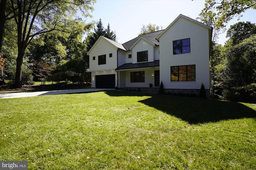
M 134 45 L 134 43 L 136 43 L 136 41 L 138 41 L 138 39 L 140 39 L 140 37 L 143 37 L 146 40 L 148 40 L 148 41 L 152 42 L 153 44 L 155 44 L 156 46 L 158 46 L 159 42 L 156 40 L 156 37 L 158 37 L 158 35 L 160 35 L 160 33 L 162 33 L 162 31 L 164 31 L 164 30 L 139 35 L 138 37 L 136 37 L 130 41 L 127 41 L 126 43 L 123 43 L 122 45 L 124 46 L 126 51 L 129 51 L 130 48 L 132 47 L 132 45 Z

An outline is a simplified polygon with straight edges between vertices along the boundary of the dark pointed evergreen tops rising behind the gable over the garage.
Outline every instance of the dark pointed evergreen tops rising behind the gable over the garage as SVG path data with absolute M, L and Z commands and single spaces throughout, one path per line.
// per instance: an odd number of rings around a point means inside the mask
M 116 41 L 116 33 L 110 30 L 110 25 L 108 24 L 108 28 L 105 29 L 101 19 L 96 23 L 96 27 L 94 27 L 94 32 L 90 33 L 86 38 L 86 50 L 90 51 L 94 43 L 98 40 L 100 36 L 104 36 L 108 39 Z

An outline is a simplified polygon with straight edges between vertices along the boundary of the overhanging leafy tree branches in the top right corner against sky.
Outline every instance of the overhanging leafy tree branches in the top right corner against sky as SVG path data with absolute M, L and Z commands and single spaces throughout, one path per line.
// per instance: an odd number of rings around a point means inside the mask
M 204 18 L 214 14 L 214 25 L 220 28 L 250 8 L 256 9 L 256 0 L 206 0 L 201 14 Z

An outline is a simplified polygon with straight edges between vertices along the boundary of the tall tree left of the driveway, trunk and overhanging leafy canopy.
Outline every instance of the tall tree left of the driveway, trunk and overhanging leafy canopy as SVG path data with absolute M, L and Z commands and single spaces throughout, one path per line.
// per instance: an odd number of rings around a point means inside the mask
M 18 33 L 16 87 L 22 86 L 23 58 L 32 39 L 54 30 L 67 31 L 67 25 L 74 24 L 70 23 L 68 18 L 74 18 L 76 12 L 81 9 L 84 9 L 82 10 L 84 16 L 90 16 L 88 10 L 93 10 L 94 2 L 94 0 L 10 0 Z

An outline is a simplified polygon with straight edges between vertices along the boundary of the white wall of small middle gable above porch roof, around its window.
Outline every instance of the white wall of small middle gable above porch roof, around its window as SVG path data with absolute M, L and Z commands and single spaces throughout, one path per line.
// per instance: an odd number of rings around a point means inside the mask
M 145 41 L 144 39 L 140 39 L 133 47 L 132 47 L 132 63 L 138 63 L 137 62 L 137 52 L 140 51 L 148 51 L 148 61 L 152 62 L 154 61 L 154 46 L 149 43 L 148 41 Z M 141 63 L 141 62 L 139 62 Z

